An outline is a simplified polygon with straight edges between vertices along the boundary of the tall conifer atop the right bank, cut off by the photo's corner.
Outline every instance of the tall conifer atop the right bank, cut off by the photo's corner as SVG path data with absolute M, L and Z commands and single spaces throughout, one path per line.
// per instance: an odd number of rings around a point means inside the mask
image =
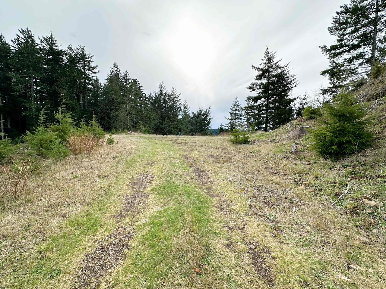
M 336 94 L 345 84 L 367 76 L 378 60 L 386 57 L 386 1 L 351 0 L 340 6 L 328 32 L 334 44 L 320 46 L 330 65 L 321 72 L 330 86 L 324 94 Z

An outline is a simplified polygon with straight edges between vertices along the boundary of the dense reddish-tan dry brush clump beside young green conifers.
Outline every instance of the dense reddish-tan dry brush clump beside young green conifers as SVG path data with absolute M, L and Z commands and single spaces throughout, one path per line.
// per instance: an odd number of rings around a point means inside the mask
M 105 138 L 97 138 L 92 134 L 70 134 L 67 147 L 73 155 L 92 153 L 98 146 L 103 146 Z

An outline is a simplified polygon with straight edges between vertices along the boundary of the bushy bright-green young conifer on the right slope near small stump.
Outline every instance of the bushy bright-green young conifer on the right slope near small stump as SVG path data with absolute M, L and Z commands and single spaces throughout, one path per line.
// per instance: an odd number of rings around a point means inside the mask
M 342 92 L 324 109 L 320 126 L 311 133 L 313 150 L 322 156 L 339 158 L 371 145 L 370 122 L 363 119 L 366 112 L 353 96 Z

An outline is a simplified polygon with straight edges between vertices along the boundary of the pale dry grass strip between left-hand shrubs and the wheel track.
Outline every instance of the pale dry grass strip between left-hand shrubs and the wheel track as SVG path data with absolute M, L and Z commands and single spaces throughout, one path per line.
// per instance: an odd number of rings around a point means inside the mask
M 64 222 L 108 193 L 109 184 L 140 145 L 116 137 L 121 145 L 103 146 L 92 154 L 69 156 L 61 162 L 46 160 L 39 174 L 30 179 L 28 194 L 1 211 L 0 287 L 7 284 L 12 271 L 16 274 L 34 261 L 42 240 L 60 233 Z

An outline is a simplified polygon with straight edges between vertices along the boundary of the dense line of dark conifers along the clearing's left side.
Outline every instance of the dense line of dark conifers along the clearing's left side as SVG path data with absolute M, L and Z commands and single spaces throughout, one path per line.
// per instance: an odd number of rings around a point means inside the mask
M 0 34 L 1 135 L 13 138 L 36 128 L 45 109 L 47 122 L 54 122 L 59 107 L 76 121 L 96 116 L 105 131 L 207 134 L 210 108 L 190 111 L 181 104 L 176 89 L 163 83 L 146 94 L 138 79 L 121 72 L 114 63 L 102 84 L 94 55 L 85 47 L 63 49 L 52 33 L 36 37 L 19 29 L 10 43 Z

